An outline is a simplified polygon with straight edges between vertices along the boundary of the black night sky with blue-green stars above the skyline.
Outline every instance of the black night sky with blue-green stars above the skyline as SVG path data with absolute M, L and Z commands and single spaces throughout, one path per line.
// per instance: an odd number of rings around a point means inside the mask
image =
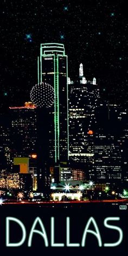
M 65 44 L 68 73 L 94 76 L 103 98 L 125 103 L 127 8 L 124 0 L 1 0 L 1 109 L 30 100 L 41 43 Z

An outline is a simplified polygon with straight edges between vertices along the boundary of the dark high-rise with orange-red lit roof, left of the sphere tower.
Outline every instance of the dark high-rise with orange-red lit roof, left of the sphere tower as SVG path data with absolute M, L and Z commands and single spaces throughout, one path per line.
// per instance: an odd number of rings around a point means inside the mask
M 10 171 L 20 175 L 20 188 L 31 188 L 32 175 L 36 174 L 37 112 L 31 102 L 21 107 L 9 107 Z M 31 159 L 34 159 L 31 163 Z M 33 174 L 30 167 L 34 169 Z M 25 185 L 26 183 L 26 185 Z M 24 185 L 23 185 L 24 184 Z

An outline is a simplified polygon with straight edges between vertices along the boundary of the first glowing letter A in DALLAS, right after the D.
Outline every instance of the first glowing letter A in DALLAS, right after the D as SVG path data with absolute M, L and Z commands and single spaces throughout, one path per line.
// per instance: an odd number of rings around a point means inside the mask
M 39 231 L 39 230 L 35 229 L 37 222 L 39 222 L 42 231 Z M 44 228 L 40 217 L 36 217 L 35 221 L 33 222 L 33 226 L 31 227 L 30 234 L 29 234 L 28 247 L 31 247 L 31 241 L 33 239 L 33 233 L 41 235 L 44 239 L 45 246 L 48 247 L 48 238 L 47 238 L 46 229 Z

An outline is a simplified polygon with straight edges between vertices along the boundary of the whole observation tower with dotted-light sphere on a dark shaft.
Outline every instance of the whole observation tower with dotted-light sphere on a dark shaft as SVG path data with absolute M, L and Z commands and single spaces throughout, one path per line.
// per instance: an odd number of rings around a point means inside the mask
M 49 130 L 54 122 L 49 109 L 54 104 L 54 88 L 42 82 L 35 85 L 30 92 L 30 99 L 37 111 L 37 190 L 48 194 L 49 180 Z

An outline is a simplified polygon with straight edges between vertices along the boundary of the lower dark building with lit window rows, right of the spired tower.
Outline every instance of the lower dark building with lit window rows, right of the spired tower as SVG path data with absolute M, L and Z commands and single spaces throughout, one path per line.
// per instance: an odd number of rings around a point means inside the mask
M 117 138 L 99 128 L 94 138 L 94 164 L 90 178 L 95 182 L 114 183 L 121 180 L 121 154 Z

